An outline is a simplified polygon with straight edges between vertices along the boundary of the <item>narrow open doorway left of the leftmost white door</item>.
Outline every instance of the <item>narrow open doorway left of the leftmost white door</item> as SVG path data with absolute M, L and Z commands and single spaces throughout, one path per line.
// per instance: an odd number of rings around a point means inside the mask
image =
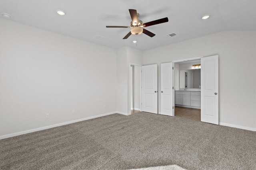
M 141 66 L 130 64 L 130 113 L 141 111 Z

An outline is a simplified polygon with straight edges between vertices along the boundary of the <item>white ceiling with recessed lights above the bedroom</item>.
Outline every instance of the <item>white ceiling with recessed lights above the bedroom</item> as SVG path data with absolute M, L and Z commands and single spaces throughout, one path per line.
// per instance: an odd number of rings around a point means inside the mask
M 128 9 L 137 10 L 144 23 L 165 17 L 169 22 L 146 27 L 156 36 L 137 35 L 136 45 L 136 35 L 122 39 L 129 28 L 106 28 L 130 26 Z M 220 31 L 256 30 L 256 0 L 0 0 L 0 13 L 10 14 L 11 21 L 91 43 L 142 51 Z M 206 14 L 210 18 L 202 20 Z M 167 37 L 170 33 L 177 35 Z M 94 35 L 106 39 L 92 39 Z

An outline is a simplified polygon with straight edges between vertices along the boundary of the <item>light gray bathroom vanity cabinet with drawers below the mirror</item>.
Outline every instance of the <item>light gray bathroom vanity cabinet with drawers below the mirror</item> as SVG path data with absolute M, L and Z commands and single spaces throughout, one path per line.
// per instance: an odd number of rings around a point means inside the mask
M 201 108 L 200 91 L 175 91 L 175 104 L 180 107 Z

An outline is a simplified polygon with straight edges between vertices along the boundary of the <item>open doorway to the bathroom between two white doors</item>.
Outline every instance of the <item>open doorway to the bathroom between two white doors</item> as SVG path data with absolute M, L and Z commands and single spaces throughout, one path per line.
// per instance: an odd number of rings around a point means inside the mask
M 174 63 L 174 116 L 201 121 L 200 64 L 200 59 Z

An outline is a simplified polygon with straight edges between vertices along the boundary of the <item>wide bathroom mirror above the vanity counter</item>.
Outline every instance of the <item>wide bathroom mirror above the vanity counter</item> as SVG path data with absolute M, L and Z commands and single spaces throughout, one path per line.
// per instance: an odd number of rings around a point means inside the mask
M 201 69 L 180 70 L 180 88 L 201 88 Z

